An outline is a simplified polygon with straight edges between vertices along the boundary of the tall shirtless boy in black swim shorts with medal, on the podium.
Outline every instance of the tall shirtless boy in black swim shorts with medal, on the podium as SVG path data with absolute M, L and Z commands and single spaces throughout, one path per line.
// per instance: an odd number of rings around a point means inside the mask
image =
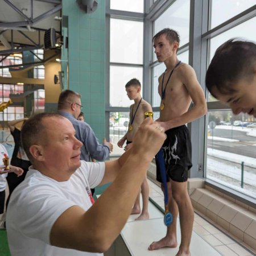
M 203 89 L 194 69 L 177 59 L 180 38 L 176 31 L 164 28 L 152 39 L 159 62 L 164 62 L 166 71 L 159 77 L 158 92 L 161 97 L 160 117 L 156 122 L 166 131 L 163 144 L 168 185 L 168 210 L 173 222 L 167 227 L 164 238 L 152 242 L 148 250 L 176 247 L 176 221 L 179 212 L 181 243 L 176 256 L 190 256 L 189 245 L 193 228 L 193 207 L 187 192 L 188 171 L 191 163 L 191 138 L 186 123 L 207 113 Z M 193 101 L 193 107 L 189 108 Z M 156 158 L 156 179 L 159 176 L 159 159 Z M 163 188 L 163 184 L 162 184 Z

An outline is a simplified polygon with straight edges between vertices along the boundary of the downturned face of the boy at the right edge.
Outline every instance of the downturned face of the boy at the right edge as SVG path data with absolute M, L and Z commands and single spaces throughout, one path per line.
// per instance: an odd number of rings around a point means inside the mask
M 251 81 L 236 82 L 233 89 L 236 89 L 235 93 L 224 95 L 213 88 L 213 94 L 218 100 L 228 103 L 235 115 L 243 112 L 256 117 L 256 73 Z

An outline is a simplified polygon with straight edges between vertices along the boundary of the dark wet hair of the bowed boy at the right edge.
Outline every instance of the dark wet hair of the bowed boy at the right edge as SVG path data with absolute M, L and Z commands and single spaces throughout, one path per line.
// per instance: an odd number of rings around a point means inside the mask
M 230 39 L 217 48 L 207 70 L 205 85 L 212 95 L 214 88 L 221 94 L 232 94 L 236 92 L 235 82 L 251 81 L 255 65 L 256 44 Z

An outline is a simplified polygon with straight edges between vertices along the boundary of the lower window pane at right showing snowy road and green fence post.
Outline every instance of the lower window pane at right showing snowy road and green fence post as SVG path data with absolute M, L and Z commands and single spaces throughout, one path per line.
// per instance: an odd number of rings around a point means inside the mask
M 254 117 L 230 110 L 209 112 L 206 177 L 256 196 L 255 144 Z

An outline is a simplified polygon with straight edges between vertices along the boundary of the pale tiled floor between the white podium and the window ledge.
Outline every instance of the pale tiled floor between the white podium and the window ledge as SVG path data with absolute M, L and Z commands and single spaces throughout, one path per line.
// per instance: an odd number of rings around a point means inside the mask
M 164 208 L 163 192 L 158 185 L 148 180 L 150 185 L 150 197 L 160 207 Z M 246 246 L 240 241 L 236 241 L 226 234 L 220 227 L 211 224 L 207 218 L 200 217 L 198 213 L 195 213 L 195 221 L 193 225 L 193 231 L 202 237 L 209 243 L 214 249 L 216 249 L 221 255 L 224 256 L 251 256 L 256 255 L 256 251 Z M 191 243 L 193 246 L 193 243 Z M 247 247 L 247 249 L 246 249 Z

